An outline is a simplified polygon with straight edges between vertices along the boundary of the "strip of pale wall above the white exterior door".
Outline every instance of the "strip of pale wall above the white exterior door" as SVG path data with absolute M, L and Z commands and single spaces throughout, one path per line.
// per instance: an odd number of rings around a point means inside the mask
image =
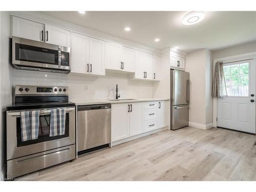
M 229 47 L 212 52 L 213 59 L 228 57 L 232 55 L 240 55 L 244 53 L 251 53 L 256 51 L 256 41 L 248 42 L 246 44 Z

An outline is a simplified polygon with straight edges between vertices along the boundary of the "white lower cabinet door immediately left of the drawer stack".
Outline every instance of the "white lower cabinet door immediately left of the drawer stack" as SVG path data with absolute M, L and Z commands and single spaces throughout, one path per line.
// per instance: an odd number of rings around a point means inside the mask
M 130 136 L 143 132 L 143 103 L 131 103 Z

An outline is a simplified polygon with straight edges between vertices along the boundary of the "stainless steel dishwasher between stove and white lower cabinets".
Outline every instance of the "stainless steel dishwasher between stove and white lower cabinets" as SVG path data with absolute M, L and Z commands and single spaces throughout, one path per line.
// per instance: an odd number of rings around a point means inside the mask
M 108 146 L 111 142 L 111 104 L 77 107 L 78 155 Z

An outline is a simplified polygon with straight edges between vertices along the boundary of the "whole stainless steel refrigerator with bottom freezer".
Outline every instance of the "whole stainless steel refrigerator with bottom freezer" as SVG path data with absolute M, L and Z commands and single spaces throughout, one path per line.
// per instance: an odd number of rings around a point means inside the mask
M 189 121 L 189 73 L 170 70 L 170 129 L 188 126 Z

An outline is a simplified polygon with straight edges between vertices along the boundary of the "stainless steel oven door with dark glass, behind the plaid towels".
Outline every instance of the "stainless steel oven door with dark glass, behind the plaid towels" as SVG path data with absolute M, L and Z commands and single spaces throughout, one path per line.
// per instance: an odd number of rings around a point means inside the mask
M 75 108 L 66 108 L 65 135 L 50 137 L 50 109 L 40 110 L 38 138 L 22 141 L 20 111 L 7 112 L 7 160 L 75 144 Z

